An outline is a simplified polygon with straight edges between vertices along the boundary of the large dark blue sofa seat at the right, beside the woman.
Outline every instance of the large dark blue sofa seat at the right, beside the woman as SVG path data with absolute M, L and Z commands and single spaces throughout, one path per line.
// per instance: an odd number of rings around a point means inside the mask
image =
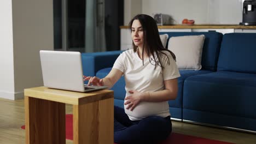
M 184 109 L 256 118 L 256 74 L 217 71 L 184 81 Z M 232 119 L 230 119 L 232 121 Z

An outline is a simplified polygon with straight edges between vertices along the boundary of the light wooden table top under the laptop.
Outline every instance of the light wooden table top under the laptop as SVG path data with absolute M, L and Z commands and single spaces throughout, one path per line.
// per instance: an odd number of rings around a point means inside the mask
M 98 100 L 113 98 L 114 92 L 108 89 L 103 89 L 83 93 L 46 87 L 34 87 L 24 89 L 24 95 L 27 97 L 57 101 L 60 103 L 80 105 L 91 103 Z

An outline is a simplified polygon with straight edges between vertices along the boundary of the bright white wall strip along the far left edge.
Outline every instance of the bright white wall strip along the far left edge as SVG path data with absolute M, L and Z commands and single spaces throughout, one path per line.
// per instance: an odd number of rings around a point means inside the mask
M 0 1 L 0 97 L 14 92 L 13 21 L 11 1 Z

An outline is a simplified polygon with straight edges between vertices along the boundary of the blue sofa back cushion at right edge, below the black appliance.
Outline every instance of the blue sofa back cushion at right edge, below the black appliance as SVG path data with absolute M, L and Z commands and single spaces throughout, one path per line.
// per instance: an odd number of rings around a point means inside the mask
M 256 33 L 223 36 L 217 70 L 256 73 Z

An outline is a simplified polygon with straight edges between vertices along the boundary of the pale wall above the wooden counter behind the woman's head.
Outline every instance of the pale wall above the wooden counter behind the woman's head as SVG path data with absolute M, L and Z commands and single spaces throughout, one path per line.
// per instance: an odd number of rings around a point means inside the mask
M 132 3 L 134 0 L 125 0 Z M 243 0 L 139 0 L 141 7 L 131 7 L 127 5 L 125 14 L 141 12 L 153 16 L 154 13 L 168 14 L 173 17 L 176 24 L 181 24 L 182 20 L 194 19 L 196 24 L 234 24 L 242 22 L 242 2 Z M 139 6 L 139 5 L 137 5 Z M 126 5 L 125 5 L 126 7 Z M 141 10 L 141 11 L 139 11 Z M 125 23 L 132 18 L 126 17 Z

